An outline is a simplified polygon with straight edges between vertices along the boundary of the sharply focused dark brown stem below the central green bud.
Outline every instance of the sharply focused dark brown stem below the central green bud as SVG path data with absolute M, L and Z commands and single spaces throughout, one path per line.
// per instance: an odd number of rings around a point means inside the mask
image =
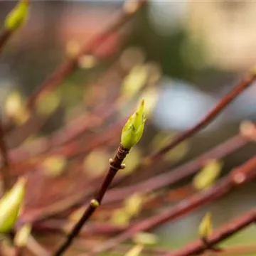
M 63 252 L 68 249 L 68 247 L 71 245 L 75 237 L 80 233 L 80 230 L 82 229 L 82 226 L 85 225 L 87 220 L 92 216 L 92 214 L 95 212 L 98 206 L 100 206 L 100 203 L 102 202 L 102 198 L 105 195 L 107 188 L 112 183 L 112 180 L 114 176 L 117 174 L 117 171 L 119 169 L 123 169 L 124 166 L 122 165 L 122 161 L 124 160 L 125 156 L 129 153 L 129 149 L 124 149 L 122 145 L 119 145 L 117 149 L 117 154 L 114 156 L 114 159 L 110 161 L 110 169 L 107 172 L 107 176 L 105 177 L 100 190 L 98 191 L 97 195 L 95 196 L 92 201 L 90 201 L 89 206 L 85 210 L 85 213 L 83 213 L 82 218 L 78 221 L 78 223 L 75 224 L 75 227 L 71 232 L 68 234 L 67 239 L 65 242 L 63 242 L 62 245 L 58 248 L 58 250 L 55 252 L 55 256 L 63 255 Z

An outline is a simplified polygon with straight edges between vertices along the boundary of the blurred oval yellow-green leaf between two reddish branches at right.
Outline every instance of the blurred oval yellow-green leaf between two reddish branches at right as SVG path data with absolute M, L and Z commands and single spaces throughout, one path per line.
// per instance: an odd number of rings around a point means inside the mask
M 220 175 L 222 166 L 223 164 L 216 159 L 208 161 L 206 166 L 193 178 L 193 186 L 198 190 L 213 186 Z

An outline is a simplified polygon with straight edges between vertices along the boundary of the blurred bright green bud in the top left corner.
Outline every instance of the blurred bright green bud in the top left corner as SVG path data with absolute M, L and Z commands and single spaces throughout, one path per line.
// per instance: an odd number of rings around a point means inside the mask
M 20 0 L 11 10 L 4 21 L 4 26 L 9 31 L 18 29 L 28 17 L 28 0 Z

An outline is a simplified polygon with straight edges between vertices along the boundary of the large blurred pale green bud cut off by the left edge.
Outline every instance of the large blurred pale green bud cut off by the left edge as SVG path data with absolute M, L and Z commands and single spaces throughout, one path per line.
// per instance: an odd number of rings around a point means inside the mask
M 0 200 L 0 233 L 8 233 L 14 227 L 25 195 L 26 179 L 16 184 Z

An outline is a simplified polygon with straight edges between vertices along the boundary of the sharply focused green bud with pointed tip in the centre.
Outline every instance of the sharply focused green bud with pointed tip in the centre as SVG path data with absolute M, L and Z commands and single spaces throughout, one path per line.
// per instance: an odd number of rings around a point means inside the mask
M 121 144 L 125 149 L 131 149 L 142 138 L 145 121 L 144 100 L 142 100 L 137 111 L 129 117 L 122 129 Z

